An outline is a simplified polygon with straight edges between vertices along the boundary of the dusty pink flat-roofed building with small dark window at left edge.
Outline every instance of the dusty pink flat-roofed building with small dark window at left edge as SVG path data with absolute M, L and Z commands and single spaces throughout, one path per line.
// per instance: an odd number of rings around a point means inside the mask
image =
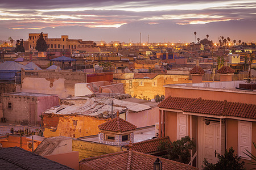
M 14 92 L 2 95 L 3 117 L 7 122 L 26 125 L 40 125 L 41 114 L 59 105 L 55 95 Z

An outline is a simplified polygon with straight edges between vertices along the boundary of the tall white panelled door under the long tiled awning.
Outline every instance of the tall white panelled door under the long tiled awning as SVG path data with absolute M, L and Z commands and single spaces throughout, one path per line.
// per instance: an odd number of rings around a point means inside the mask
M 218 160 L 217 154 L 224 154 L 225 151 L 225 126 L 222 125 L 220 129 L 219 123 L 204 124 L 203 135 L 203 159 L 205 158 L 209 163 L 215 164 Z

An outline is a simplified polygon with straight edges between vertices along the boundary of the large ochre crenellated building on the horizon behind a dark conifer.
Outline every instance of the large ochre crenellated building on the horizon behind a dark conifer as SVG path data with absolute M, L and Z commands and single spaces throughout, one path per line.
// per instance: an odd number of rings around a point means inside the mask
M 36 41 L 39 39 L 40 33 L 28 34 L 28 50 L 36 49 Z M 82 41 L 82 39 L 68 39 L 68 35 L 62 35 L 61 38 L 48 39 L 48 33 L 43 33 L 44 40 L 48 46 L 48 50 L 53 49 L 70 49 L 74 51 L 100 52 L 100 48 L 93 41 Z

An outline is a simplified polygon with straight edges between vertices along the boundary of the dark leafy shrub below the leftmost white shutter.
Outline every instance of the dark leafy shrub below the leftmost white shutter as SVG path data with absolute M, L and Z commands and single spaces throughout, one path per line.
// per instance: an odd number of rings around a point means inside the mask
M 189 138 L 189 136 L 186 136 L 171 143 L 160 142 L 158 150 L 161 152 L 167 152 L 167 155 L 164 155 L 163 158 L 188 164 L 191 156 L 191 150 L 194 147 L 195 143 L 191 138 Z

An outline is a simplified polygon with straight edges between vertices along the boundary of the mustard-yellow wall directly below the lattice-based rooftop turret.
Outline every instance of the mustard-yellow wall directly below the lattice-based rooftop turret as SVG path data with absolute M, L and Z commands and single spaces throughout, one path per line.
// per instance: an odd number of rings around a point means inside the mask
M 105 145 L 78 139 L 73 140 L 72 148 L 73 151 L 79 151 L 79 160 L 127 150 L 127 148 L 122 146 Z

